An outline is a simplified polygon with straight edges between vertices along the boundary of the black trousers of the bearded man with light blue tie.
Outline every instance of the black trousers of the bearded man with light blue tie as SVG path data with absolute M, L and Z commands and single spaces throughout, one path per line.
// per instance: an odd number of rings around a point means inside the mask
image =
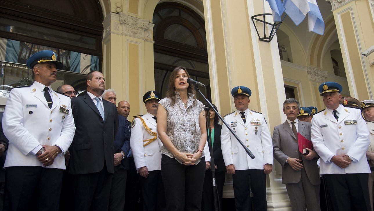
M 70 176 L 73 180 L 73 198 L 70 198 L 69 211 L 108 210 L 113 174 L 108 173 L 105 164 L 99 172 Z

